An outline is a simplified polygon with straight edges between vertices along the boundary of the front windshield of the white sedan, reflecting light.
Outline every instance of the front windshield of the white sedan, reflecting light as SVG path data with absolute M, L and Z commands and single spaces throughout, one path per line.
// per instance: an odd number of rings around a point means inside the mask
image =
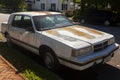
M 38 31 L 73 25 L 71 21 L 62 15 L 34 16 L 33 20 Z

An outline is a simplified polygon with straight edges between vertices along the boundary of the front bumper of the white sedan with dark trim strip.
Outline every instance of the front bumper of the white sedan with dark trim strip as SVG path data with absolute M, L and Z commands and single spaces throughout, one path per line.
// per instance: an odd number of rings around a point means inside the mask
M 115 43 L 102 51 L 88 54 L 85 56 L 78 56 L 74 59 L 65 59 L 59 57 L 59 61 L 61 64 L 67 67 L 76 70 L 84 70 L 93 66 L 94 64 L 100 64 L 109 61 L 114 56 L 117 49 L 119 49 L 119 45 Z

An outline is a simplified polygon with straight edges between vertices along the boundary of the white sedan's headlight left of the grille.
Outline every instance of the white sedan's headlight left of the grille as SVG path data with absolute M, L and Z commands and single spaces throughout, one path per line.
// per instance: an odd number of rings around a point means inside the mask
M 92 47 L 89 46 L 89 47 L 81 48 L 80 50 L 73 50 L 71 55 L 76 57 L 76 56 L 85 55 L 91 52 L 92 52 Z

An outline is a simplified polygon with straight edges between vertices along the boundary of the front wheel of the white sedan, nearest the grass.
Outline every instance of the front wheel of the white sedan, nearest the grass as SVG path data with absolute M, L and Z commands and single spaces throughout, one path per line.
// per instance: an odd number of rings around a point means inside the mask
M 59 62 L 57 60 L 57 57 L 54 55 L 54 53 L 50 50 L 47 50 L 43 54 L 43 64 L 46 68 L 57 71 L 59 68 Z

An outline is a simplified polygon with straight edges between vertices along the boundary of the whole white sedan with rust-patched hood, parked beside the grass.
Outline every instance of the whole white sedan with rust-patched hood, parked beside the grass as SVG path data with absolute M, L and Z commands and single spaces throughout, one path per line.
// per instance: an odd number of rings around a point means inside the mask
M 13 13 L 1 30 L 8 42 L 41 55 L 49 69 L 60 63 L 84 70 L 109 61 L 119 48 L 113 35 L 74 25 L 56 12 Z

